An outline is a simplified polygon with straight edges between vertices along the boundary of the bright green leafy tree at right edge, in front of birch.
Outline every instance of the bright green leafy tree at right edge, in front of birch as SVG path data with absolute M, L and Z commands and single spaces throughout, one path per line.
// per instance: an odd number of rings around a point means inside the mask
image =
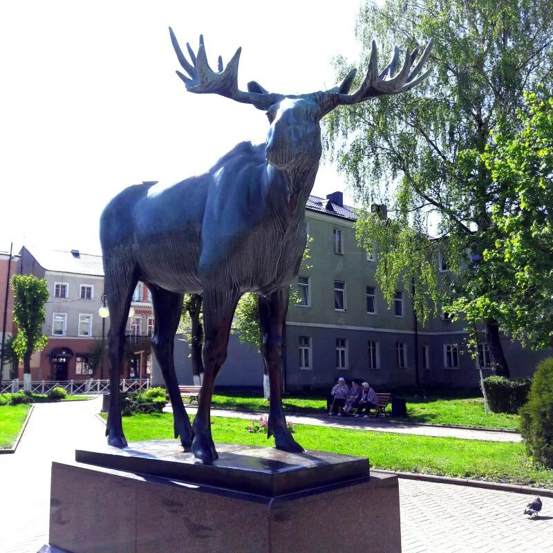
M 500 189 L 491 208 L 493 247 L 482 252 L 480 278 L 494 286 L 458 299 L 472 318 L 496 317 L 525 346 L 553 346 L 553 99 L 528 93 L 522 129 L 500 124 L 480 154 Z

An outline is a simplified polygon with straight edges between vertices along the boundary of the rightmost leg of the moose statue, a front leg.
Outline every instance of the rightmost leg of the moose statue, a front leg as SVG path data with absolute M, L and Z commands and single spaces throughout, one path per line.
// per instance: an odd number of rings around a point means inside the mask
M 263 334 L 261 355 L 269 373 L 270 408 L 267 437 L 274 435 L 277 449 L 300 453 L 303 447 L 292 438 L 282 408 L 283 337 L 288 311 L 288 288 L 259 297 L 259 326 Z

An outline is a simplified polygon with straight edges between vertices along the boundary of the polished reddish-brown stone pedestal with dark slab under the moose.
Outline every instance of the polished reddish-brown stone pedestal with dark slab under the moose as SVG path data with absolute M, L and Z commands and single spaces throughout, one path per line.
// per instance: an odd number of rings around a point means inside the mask
M 401 552 L 397 476 L 321 451 L 217 450 L 204 464 L 160 440 L 54 462 L 41 552 Z

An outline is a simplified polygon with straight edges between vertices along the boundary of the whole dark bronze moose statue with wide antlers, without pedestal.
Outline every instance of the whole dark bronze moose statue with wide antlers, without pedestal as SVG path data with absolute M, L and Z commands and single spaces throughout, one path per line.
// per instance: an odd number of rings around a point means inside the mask
M 301 95 L 269 93 L 256 82 L 238 89 L 241 48 L 218 71 L 207 62 L 203 37 L 198 54 L 187 44 L 182 53 L 169 28 L 187 91 L 212 93 L 264 110 L 270 123 L 264 144 L 241 142 L 207 173 L 171 186 L 144 182 L 124 189 L 106 206 L 100 220 L 105 290 L 111 328 L 109 370 L 111 400 L 108 442 L 126 447 L 122 429 L 119 377 L 124 330 L 138 281 L 151 290 L 155 328 L 151 343 L 173 406 L 175 438 L 185 451 L 209 462 L 218 458 L 209 412 L 236 303 L 245 292 L 259 295 L 261 353 L 270 383 L 268 436 L 278 449 L 301 452 L 286 427 L 281 401 L 283 332 L 290 283 L 297 276 L 306 246 L 306 202 L 321 158 L 321 118 L 342 104 L 408 91 L 429 75 L 419 75 L 431 41 L 418 57 L 407 53 L 397 71 L 399 51 L 378 73 L 373 42 L 368 70 L 350 94 L 356 70 L 328 91 Z M 183 294 L 203 292 L 204 378 L 194 424 L 182 404 L 176 379 L 173 341 L 182 311 Z

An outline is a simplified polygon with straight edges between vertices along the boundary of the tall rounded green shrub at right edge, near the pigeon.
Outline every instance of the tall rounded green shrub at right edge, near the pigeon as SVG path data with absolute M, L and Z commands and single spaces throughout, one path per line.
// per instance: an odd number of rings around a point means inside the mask
M 553 357 L 538 364 L 521 409 L 521 434 L 528 455 L 553 469 Z

